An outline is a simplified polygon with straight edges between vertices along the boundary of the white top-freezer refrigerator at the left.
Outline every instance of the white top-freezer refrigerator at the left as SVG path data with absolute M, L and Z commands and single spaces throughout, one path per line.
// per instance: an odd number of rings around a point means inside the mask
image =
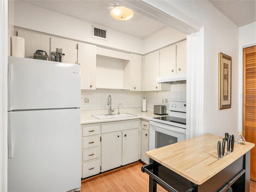
M 8 58 L 8 192 L 81 187 L 80 65 Z

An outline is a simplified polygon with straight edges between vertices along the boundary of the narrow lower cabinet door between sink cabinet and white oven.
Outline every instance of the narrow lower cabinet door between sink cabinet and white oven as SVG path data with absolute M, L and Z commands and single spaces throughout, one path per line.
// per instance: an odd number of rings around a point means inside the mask
M 140 159 L 148 164 L 149 158 L 146 155 L 146 152 L 148 151 L 149 146 L 149 132 L 146 130 L 141 130 L 141 146 L 140 146 Z

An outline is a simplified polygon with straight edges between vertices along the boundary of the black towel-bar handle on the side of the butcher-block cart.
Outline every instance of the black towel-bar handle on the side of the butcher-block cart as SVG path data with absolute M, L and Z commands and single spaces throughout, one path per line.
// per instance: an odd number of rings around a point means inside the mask
M 158 184 L 160 184 L 162 187 L 164 187 L 166 190 L 170 192 L 178 192 L 176 189 L 172 188 L 169 184 L 164 182 L 162 179 L 160 179 L 158 176 L 153 174 L 150 170 L 153 169 L 153 163 L 146 164 L 141 167 L 141 171 L 144 173 L 147 173 L 150 177 L 152 177 Z M 194 184 L 192 187 L 190 187 L 186 192 L 192 192 L 194 189 L 196 189 L 197 186 Z

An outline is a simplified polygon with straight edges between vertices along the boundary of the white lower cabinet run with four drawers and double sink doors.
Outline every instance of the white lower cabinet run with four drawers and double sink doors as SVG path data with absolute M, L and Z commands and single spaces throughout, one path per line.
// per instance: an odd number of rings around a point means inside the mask
M 139 160 L 140 120 L 81 125 L 82 178 Z

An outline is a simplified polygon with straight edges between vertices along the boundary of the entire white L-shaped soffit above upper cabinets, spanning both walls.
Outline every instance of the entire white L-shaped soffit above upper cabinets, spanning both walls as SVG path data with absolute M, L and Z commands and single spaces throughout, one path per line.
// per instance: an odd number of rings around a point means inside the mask
M 44 19 L 38 22 L 38 18 L 40 17 Z M 63 22 L 56 27 L 56 23 L 59 21 Z M 43 8 L 38 8 L 17 0 L 15 0 L 14 25 L 138 54 L 146 54 L 186 38 L 185 34 L 169 27 L 158 31 L 143 40 L 100 26 L 108 29 L 108 40 L 99 40 L 97 38 L 92 38 L 92 23 Z

